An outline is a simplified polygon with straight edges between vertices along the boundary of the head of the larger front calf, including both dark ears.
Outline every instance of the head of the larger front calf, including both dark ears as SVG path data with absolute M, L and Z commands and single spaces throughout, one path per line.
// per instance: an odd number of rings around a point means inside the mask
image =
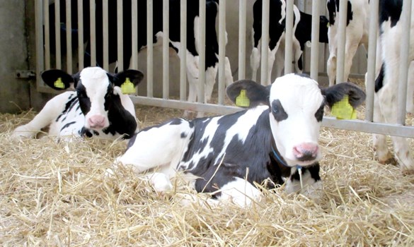
M 267 87 L 251 80 L 239 80 L 230 85 L 226 93 L 236 102 L 241 90 L 246 90 L 250 107 L 269 106 L 272 137 L 289 167 L 304 167 L 321 159 L 318 135 L 325 106 L 332 107 L 345 95 L 352 107 L 359 106 L 365 99 L 365 93 L 352 83 L 322 89 L 315 80 L 298 74 L 277 78 Z

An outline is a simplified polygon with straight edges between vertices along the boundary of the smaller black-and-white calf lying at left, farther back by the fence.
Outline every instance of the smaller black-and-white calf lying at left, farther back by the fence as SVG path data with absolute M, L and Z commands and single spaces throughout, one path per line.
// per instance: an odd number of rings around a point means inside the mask
M 134 104 L 122 94 L 120 85 L 126 78 L 137 85 L 143 77 L 140 71 L 110 74 L 99 67 L 84 68 L 74 75 L 56 69 L 45 71 L 42 79 L 51 88 L 64 90 L 73 83 L 76 92 L 53 97 L 32 121 L 16 128 L 13 136 L 33 138 L 49 126 L 49 135 L 131 138 L 138 131 Z M 55 85 L 57 81 L 62 86 Z

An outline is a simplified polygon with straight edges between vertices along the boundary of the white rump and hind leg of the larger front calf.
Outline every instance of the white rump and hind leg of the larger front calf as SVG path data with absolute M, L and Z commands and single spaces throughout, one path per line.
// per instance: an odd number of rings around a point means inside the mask
M 169 178 L 176 174 L 176 166 L 188 147 L 193 128 L 184 119 L 173 119 L 159 126 L 137 133 L 128 143 L 124 155 L 117 157 L 114 169 L 130 167 L 136 174 L 159 169 L 147 178 L 157 191 L 172 188 Z M 109 170 L 108 174 L 114 171 Z

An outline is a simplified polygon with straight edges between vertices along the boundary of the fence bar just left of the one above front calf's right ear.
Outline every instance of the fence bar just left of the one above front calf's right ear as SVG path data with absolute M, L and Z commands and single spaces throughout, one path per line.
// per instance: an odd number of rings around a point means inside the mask
M 318 80 L 319 67 L 319 0 L 312 4 L 312 34 L 311 34 L 311 78 Z M 305 59 L 302 59 L 305 61 Z

